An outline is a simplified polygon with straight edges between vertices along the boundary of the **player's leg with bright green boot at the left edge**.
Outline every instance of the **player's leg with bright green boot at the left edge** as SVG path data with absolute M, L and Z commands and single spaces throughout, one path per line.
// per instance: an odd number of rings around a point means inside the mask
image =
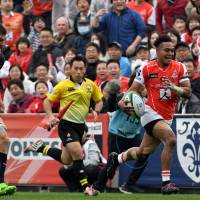
M 17 188 L 15 186 L 9 186 L 4 182 L 4 175 L 7 163 L 9 139 L 7 136 L 7 129 L 0 120 L 0 196 L 14 194 Z

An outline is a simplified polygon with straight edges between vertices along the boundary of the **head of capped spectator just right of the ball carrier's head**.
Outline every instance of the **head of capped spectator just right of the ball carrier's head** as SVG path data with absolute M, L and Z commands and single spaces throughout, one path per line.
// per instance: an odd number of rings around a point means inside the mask
M 185 58 L 190 57 L 191 51 L 190 47 L 185 42 L 179 42 L 175 46 L 175 60 L 178 62 L 182 62 Z

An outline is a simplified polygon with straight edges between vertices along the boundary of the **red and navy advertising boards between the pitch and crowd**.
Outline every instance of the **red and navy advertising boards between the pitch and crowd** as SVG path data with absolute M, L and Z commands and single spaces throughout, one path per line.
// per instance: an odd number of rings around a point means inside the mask
M 2 114 L 8 127 L 10 147 L 6 170 L 6 181 L 27 185 L 62 185 L 58 175 L 62 166 L 48 156 L 30 152 L 24 148 L 38 139 L 51 147 L 61 148 L 57 127 L 51 131 L 41 127 L 47 121 L 45 114 Z M 97 122 L 88 116 L 89 134 L 95 136 L 104 157 L 107 157 L 109 117 L 99 115 Z M 179 186 L 200 186 L 200 115 L 175 115 L 172 129 L 177 136 L 177 145 L 172 161 L 172 180 Z M 160 153 L 162 146 L 149 158 L 149 163 L 138 181 L 144 187 L 159 187 L 161 183 Z M 133 162 L 119 168 L 119 185 L 123 184 L 132 170 Z

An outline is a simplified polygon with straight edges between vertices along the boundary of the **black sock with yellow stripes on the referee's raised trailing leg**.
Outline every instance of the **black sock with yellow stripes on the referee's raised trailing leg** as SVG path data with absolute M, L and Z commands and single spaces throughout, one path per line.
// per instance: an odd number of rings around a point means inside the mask
M 54 160 L 57 160 L 58 162 L 62 163 L 62 161 L 61 161 L 62 150 L 61 149 L 50 148 L 48 146 L 44 146 L 44 148 L 40 152 L 43 153 L 44 155 L 48 155 L 48 156 L 52 157 Z

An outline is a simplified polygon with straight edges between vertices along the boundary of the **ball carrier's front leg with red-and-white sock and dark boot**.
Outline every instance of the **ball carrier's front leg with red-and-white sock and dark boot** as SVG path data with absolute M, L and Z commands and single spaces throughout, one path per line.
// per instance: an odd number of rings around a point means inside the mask
M 163 186 L 161 191 L 163 194 L 177 193 L 179 189 L 175 186 L 175 184 L 170 183 L 171 162 L 173 150 L 176 145 L 176 137 L 170 126 L 163 120 L 155 124 L 153 136 L 158 138 L 164 145 L 161 154 Z

